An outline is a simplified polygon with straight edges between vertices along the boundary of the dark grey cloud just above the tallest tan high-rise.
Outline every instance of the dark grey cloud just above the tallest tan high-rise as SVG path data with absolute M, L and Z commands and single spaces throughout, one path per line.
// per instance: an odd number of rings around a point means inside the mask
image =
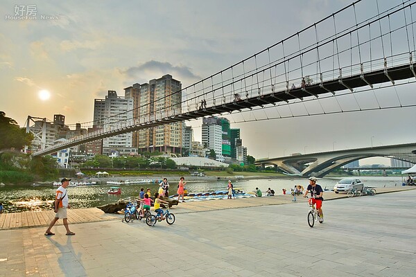
M 202 79 L 200 76 L 194 74 L 192 70 L 187 66 L 174 66 L 169 62 L 158 62 L 150 60 L 139 66 L 132 66 L 125 71 L 121 71 L 122 74 L 128 76 L 128 78 L 140 78 L 143 82 L 148 82 L 145 76 L 160 76 L 165 74 L 173 75 L 173 78 L 177 80 L 187 80 L 196 82 Z M 155 77 L 153 77 L 155 78 Z M 153 79 L 150 77 L 150 79 Z

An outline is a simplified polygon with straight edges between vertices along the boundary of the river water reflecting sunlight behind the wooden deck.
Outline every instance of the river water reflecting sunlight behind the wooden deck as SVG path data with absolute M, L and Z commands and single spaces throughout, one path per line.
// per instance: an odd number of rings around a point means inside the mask
M 131 178 L 130 178 L 131 179 Z M 336 182 L 342 178 L 322 178 L 318 179 L 318 184 L 322 188 L 331 189 Z M 401 186 L 401 176 L 397 177 L 358 177 L 363 181 L 365 186 L 371 187 L 392 187 Z M 291 192 L 291 188 L 300 184 L 306 188 L 309 184 L 307 179 L 252 179 L 234 181 L 234 188 L 240 188 L 246 193 L 252 192 L 254 188 L 260 188 L 262 191 L 272 188 L 276 195 L 282 194 L 282 189 L 286 189 L 287 193 Z M 104 204 L 116 202 L 118 199 L 128 199 L 129 197 L 137 197 L 140 188 L 150 188 L 152 195 L 157 191 L 157 184 L 135 184 L 122 185 L 121 195 L 108 195 L 107 190 L 110 186 L 100 184 L 96 186 L 69 187 L 69 203 L 71 208 L 90 208 Z M 188 181 L 185 186 L 189 193 L 212 192 L 216 190 L 226 190 L 227 181 Z M 170 183 L 171 195 L 177 190 L 177 182 Z M 40 186 L 0 186 L 0 202 L 3 203 L 3 212 L 16 213 L 21 211 L 42 211 L 49 209 L 55 196 L 56 187 L 52 184 Z M 330 192 L 331 193 L 331 192 Z

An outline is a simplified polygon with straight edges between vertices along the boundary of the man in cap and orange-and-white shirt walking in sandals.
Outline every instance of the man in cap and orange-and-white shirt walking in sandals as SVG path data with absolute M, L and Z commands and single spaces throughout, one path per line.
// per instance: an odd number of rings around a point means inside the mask
M 64 222 L 65 229 L 67 229 L 67 235 L 75 235 L 75 233 L 69 230 L 68 226 L 68 218 L 67 218 L 67 208 L 69 208 L 69 199 L 67 195 L 67 187 L 69 186 L 69 181 L 71 179 L 64 178 L 61 181 L 62 186 L 56 190 L 55 195 L 55 218 L 49 224 L 48 229 L 46 230 L 44 235 L 55 235 L 55 233 L 51 232 L 51 229 L 55 223 L 62 218 Z

